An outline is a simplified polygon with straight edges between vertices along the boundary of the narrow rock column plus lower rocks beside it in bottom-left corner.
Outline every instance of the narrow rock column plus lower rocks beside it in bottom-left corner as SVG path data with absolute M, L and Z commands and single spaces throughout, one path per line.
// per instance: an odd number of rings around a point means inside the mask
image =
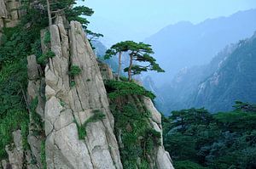
M 29 109 L 29 129 L 27 140 L 21 135 L 21 130 L 13 132 L 14 143 L 6 146 L 8 160 L 2 161 L 2 167 L 13 169 L 39 169 L 43 168 L 41 163 L 41 144 L 44 140 L 43 127 L 35 121 L 44 121 L 44 78 L 40 78 L 39 65 L 35 55 L 27 57 L 28 86 L 26 93 L 26 106 Z M 32 106 L 32 104 L 34 104 Z M 23 131 L 24 132 L 24 131 Z M 41 132 L 41 133 L 40 133 Z M 24 147 L 24 142 L 29 144 L 30 149 Z

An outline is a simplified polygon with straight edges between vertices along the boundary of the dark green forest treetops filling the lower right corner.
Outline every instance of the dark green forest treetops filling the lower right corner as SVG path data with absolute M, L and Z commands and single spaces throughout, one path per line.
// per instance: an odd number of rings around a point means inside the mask
M 164 118 L 164 144 L 176 168 L 197 168 L 194 162 L 212 169 L 255 168 L 253 106 L 236 102 L 236 110 L 230 112 L 211 115 L 204 109 L 190 109 Z

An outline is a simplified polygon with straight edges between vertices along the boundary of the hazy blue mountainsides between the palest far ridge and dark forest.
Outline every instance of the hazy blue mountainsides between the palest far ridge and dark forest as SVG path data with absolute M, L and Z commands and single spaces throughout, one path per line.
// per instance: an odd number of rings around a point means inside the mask
M 190 107 L 231 110 L 235 100 L 256 103 L 256 33 L 218 53 L 208 65 L 181 70 L 171 85 L 160 87 L 158 108 L 170 113 Z

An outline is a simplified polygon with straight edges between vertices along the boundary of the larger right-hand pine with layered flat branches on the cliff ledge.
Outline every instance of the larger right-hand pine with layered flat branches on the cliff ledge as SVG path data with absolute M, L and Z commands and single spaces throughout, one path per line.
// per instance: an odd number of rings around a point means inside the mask
M 125 44 L 130 51 L 130 64 L 129 67 L 125 68 L 125 72 L 128 72 L 129 81 L 131 81 L 131 76 L 141 74 L 143 71 L 155 70 L 157 72 L 165 72 L 165 70 L 162 70 L 160 65 L 158 65 L 156 60 L 151 56 L 151 54 L 154 54 L 151 45 L 133 41 L 127 41 Z M 137 65 L 138 62 L 143 64 Z

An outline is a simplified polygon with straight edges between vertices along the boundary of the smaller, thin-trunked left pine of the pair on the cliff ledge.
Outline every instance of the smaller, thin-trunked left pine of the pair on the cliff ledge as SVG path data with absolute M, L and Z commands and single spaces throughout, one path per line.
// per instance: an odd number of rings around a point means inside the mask
M 118 67 L 118 80 L 120 77 L 120 71 L 121 71 L 121 66 L 122 66 L 122 54 L 124 52 L 128 51 L 128 45 L 126 44 L 126 42 L 118 42 L 116 44 L 114 44 L 111 48 L 109 48 L 104 56 L 104 59 L 110 59 L 111 57 L 113 57 L 116 54 L 119 54 L 119 67 Z

